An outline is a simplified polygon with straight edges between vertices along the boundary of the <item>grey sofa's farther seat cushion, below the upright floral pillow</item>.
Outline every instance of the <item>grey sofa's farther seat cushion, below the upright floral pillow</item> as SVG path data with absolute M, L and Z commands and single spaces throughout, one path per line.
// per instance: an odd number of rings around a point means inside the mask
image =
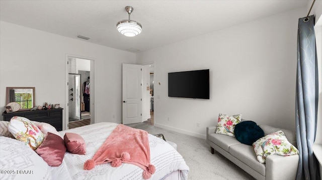
M 240 142 L 237 141 L 235 137 L 231 137 L 223 134 L 211 133 L 211 134 L 208 134 L 208 139 L 227 152 L 229 151 L 229 146 L 234 144 L 240 144 Z

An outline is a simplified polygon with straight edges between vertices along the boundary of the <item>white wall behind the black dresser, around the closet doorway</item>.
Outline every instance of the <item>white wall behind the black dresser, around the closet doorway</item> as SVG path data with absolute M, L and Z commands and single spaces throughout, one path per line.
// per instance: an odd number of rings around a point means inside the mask
M 122 63 L 135 64 L 135 54 L 6 22 L 0 22 L 0 110 L 9 86 L 35 87 L 37 105 L 65 108 L 66 55 L 95 60 L 96 122 L 120 123 Z

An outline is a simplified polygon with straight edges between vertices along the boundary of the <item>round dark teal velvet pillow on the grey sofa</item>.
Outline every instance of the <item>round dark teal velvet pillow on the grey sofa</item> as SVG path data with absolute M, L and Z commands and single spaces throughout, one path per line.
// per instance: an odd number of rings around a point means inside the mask
M 235 126 L 236 139 L 247 145 L 252 145 L 257 139 L 264 137 L 264 131 L 254 121 L 243 121 Z

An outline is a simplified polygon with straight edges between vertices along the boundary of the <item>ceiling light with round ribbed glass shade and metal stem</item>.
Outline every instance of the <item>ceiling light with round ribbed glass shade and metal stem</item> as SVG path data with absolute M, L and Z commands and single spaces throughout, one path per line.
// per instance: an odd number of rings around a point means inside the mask
M 133 37 L 133 36 L 139 35 L 142 32 L 141 24 L 136 21 L 130 20 L 130 16 L 131 16 L 131 13 L 133 12 L 133 8 L 130 6 L 127 6 L 125 7 L 125 10 L 129 14 L 129 19 L 119 21 L 116 24 L 117 31 L 127 37 Z

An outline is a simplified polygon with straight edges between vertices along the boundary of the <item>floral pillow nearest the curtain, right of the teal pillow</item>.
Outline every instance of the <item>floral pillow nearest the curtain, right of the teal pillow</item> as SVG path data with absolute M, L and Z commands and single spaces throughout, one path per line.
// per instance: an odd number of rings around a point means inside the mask
M 298 150 L 293 146 L 284 135 L 283 131 L 277 131 L 258 139 L 253 143 L 257 160 L 265 163 L 268 155 L 296 155 Z

